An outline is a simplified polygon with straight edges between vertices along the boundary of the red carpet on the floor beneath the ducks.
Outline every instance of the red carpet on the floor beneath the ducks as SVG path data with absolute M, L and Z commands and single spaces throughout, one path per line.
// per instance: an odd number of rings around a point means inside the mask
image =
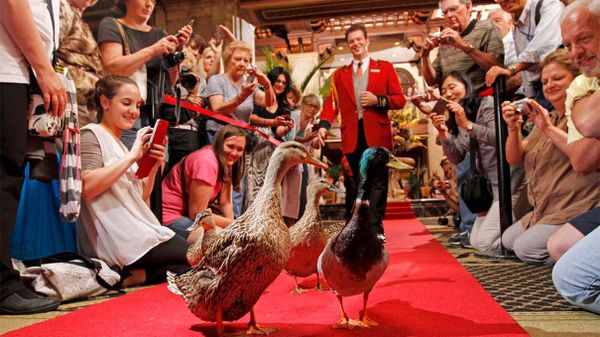
M 275 337 L 300 336 L 527 336 L 477 281 L 417 220 L 385 222 L 390 266 L 371 293 L 370 317 L 380 326 L 334 330 L 337 300 L 329 291 L 292 295 L 293 279 L 282 274 L 255 307 L 257 319 L 279 328 Z M 313 285 L 314 277 L 305 281 Z M 346 298 L 358 317 L 362 296 Z M 248 315 L 229 327 L 242 328 Z M 19 337 L 216 336 L 165 285 L 141 290 L 49 321 L 7 333 Z

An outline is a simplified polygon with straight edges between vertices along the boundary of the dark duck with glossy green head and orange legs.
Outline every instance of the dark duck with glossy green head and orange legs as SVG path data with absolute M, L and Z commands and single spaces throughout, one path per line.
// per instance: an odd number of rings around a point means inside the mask
M 385 272 L 389 257 L 377 231 L 369 223 L 369 187 L 372 172 L 387 165 L 391 153 L 382 147 L 365 150 L 360 160 L 360 176 L 356 204 L 352 217 L 342 231 L 331 238 L 317 262 L 321 274 L 340 303 L 341 318 L 333 327 L 351 329 L 355 326 L 375 326 L 367 316 L 369 293 Z M 350 321 L 344 311 L 344 296 L 363 294 L 363 310 L 360 321 Z

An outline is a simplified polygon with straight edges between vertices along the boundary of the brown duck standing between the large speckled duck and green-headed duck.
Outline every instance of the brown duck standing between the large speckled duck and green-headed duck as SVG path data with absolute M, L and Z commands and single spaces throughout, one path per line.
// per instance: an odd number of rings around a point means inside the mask
M 306 290 L 300 288 L 297 277 L 307 277 L 317 272 L 317 259 L 325 248 L 327 236 L 323 229 L 319 199 L 327 190 L 336 190 L 327 179 L 315 177 L 307 186 L 306 207 L 302 217 L 290 227 L 292 251 L 285 265 L 285 271 L 294 277 L 296 294 Z M 317 289 L 320 289 L 319 275 L 317 274 Z

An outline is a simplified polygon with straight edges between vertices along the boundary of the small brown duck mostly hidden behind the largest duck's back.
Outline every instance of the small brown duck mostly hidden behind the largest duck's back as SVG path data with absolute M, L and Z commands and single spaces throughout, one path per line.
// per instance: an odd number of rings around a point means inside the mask
M 217 235 L 223 230 L 223 228 L 217 226 L 215 219 L 212 216 L 212 210 L 210 208 L 205 209 L 202 212 L 196 213 L 194 223 L 187 229 L 188 232 L 194 231 L 202 227 L 198 239 L 196 242 L 188 248 L 187 259 L 190 266 L 194 267 L 202 260 L 204 254 L 216 240 Z

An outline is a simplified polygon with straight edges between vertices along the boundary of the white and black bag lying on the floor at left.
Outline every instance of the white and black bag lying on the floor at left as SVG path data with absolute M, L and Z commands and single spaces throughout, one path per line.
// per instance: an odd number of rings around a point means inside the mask
M 61 302 L 120 291 L 121 276 L 106 262 L 76 253 L 60 253 L 42 259 L 40 266 L 28 267 L 21 276 L 31 280 L 36 292 Z

